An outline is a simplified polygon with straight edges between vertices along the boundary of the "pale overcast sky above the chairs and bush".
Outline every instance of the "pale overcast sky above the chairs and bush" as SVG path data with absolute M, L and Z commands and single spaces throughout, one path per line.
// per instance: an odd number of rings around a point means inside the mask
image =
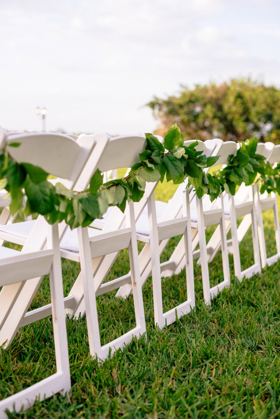
M 0 0 L 0 126 L 138 134 L 145 103 L 210 80 L 280 87 L 280 1 Z

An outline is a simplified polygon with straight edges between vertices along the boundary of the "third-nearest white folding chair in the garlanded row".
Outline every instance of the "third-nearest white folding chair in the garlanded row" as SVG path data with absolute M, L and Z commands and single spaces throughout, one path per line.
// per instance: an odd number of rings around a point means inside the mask
M 192 141 L 185 142 L 189 145 Z M 209 150 L 207 152 L 207 144 Z M 213 142 L 199 142 L 197 149 L 210 155 L 215 150 L 216 143 Z M 150 274 L 153 278 L 153 299 L 154 299 L 154 316 L 155 323 L 159 328 L 163 328 L 166 324 L 169 325 L 176 320 L 176 315 L 180 318 L 187 314 L 190 310 L 195 308 L 194 299 L 194 274 L 193 274 L 193 258 L 192 258 L 192 232 L 191 219 L 189 210 L 189 191 L 184 189 L 186 184 L 179 186 L 174 194 L 174 197 L 169 202 L 166 210 L 163 212 L 163 220 L 157 221 L 156 206 L 154 195 L 152 194 L 148 201 L 148 219 L 149 219 L 149 236 L 144 236 L 137 233 L 137 239 L 143 241 L 145 244 L 143 250 L 139 255 L 141 284 L 144 285 Z M 191 190 L 192 188 L 190 188 Z M 183 210 L 183 213 L 181 213 Z M 183 217 L 182 217 L 183 215 Z M 168 228 L 166 228 L 168 226 Z M 186 280 L 187 280 L 187 300 L 179 306 L 172 308 L 166 313 L 163 313 L 162 307 L 162 292 L 161 292 L 161 277 L 171 276 L 162 274 L 163 272 L 174 273 L 176 269 L 176 261 L 172 258 L 167 262 L 160 263 L 160 255 L 163 253 L 166 245 L 171 237 L 183 234 L 181 238 L 181 264 L 186 266 Z M 187 250 L 187 252 L 186 252 Z M 186 256 L 187 255 L 187 256 Z M 122 286 L 117 292 L 117 296 L 126 297 L 129 295 L 130 289 Z

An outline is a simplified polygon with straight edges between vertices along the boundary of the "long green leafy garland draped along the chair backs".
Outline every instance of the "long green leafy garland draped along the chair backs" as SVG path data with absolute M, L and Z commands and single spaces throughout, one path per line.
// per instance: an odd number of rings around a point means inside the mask
M 256 154 L 257 137 L 240 143 L 236 156 L 228 157 L 228 165 L 212 174 L 202 170 L 215 165 L 219 156 L 206 157 L 197 151 L 197 141 L 184 146 L 184 137 L 174 124 L 164 137 L 163 144 L 153 134 L 145 134 L 146 146 L 139 155 L 140 161 L 132 166 L 129 174 L 121 179 L 103 183 L 103 175 L 97 170 L 89 188 L 82 192 L 67 189 L 61 183 L 53 185 L 47 180 L 49 173 L 29 163 L 18 163 L 0 150 L 0 189 L 6 189 L 5 198 L 11 197 L 10 212 L 14 215 L 27 197 L 25 214 L 39 213 L 46 220 L 65 222 L 70 228 L 86 227 L 96 218 L 102 218 L 109 206 L 116 205 L 124 212 L 127 201 L 138 202 L 143 197 L 146 182 L 173 181 L 181 184 L 187 177 L 197 196 L 210 195 L 211 201 L 223 191 L 236 192 L 242 182 L 251 185 L 257 176 L 262 182 L 261 193 L 280 192 L 280 165 L 272 169 L 264 163 L 264 157 Z M 18 147 L 19 143 L 9 146 Z

